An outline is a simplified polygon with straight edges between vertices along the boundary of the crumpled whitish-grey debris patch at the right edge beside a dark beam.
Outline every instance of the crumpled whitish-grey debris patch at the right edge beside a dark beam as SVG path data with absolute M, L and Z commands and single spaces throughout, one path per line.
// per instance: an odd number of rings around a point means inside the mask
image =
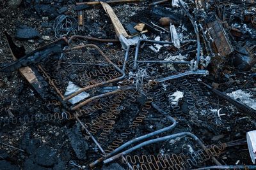
M 228 93 L 227 95 L 236 100 L 240 99 L 241 103 L 246 104 L 250 108 L 253 108 L 253 110 L 256 110 L 256 99 L 252 99 L 252 94 L 239 89 L 232 93 Z

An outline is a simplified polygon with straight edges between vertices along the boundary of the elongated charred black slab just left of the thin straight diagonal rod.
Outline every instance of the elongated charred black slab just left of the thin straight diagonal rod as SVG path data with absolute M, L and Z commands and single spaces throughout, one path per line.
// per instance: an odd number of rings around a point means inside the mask
M 75 124 L 72 129 L 68 129 L 67 131 L 68 139 L 70 140 L 70 144 L 76 153 L 78 159 L 86 160 L 88 153 L 88 143 L 84 141 L 81 125 Z

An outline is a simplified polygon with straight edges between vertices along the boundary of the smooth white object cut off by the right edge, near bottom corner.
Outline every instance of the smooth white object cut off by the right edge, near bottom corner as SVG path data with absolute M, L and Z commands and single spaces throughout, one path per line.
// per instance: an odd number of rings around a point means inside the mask
M 256 159 L 256 130 L 246 133 L 246 139 L 248 144 L 248 150 L 252 159 L 253 164 L 255 164 Z

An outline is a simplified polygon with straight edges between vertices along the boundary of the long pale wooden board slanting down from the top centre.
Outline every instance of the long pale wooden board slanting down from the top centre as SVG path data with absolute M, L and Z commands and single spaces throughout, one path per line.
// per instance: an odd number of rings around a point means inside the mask
M 120 35 L 123 35 L 124 37 L 128 37 L 128 34 L 124 29 L 124 26 L 121 24 L 118 17 L 116 17 L 116 14 L 113 11 L 113 9 L 111 8 L 111 6 L 109 6 L 108 3 L 103 3 L 103 2 L 100 2 L 100 4 L 102 5 L 104 10 L 108 14 L 109 18 L 111 19 L 111 22 L 112 22 L 112 24 L 114 25 L 114 28 L 115 28 L 116 36 L 118 38 L 119 38 Z

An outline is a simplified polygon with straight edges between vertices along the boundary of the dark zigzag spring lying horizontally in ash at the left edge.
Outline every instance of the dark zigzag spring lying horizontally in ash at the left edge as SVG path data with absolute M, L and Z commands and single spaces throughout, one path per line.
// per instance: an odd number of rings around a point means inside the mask
M 16 124 L 26 124 L 33 122 L 48 122 L 54 120 L 70 120 L 72 116 L 69 112 L 63 113 L 46 113 L 38 115 L 25 115 L 23 117 L 14 117 L 14 118 L 0 118 L 0 125 L 16 125 Z

